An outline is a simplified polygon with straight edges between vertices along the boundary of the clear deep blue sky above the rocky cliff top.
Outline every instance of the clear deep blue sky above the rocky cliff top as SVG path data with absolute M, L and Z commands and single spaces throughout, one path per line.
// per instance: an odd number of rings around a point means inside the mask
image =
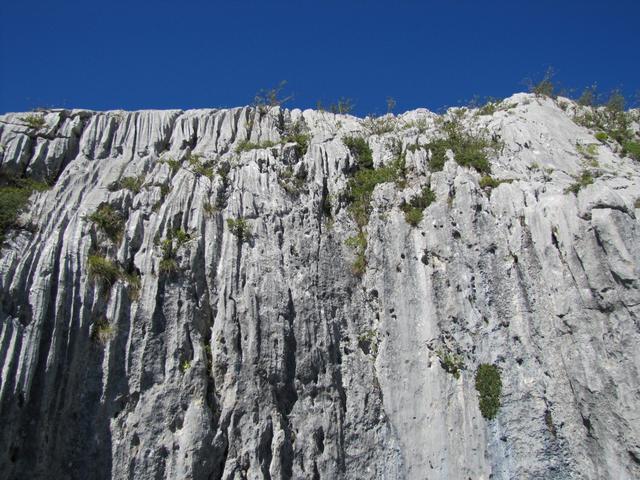
M 639 0 L 2 0 L 0 112 L 249 103 L 358 114 L 507 96 L 553 66 L 581 89 L 640 89 Z

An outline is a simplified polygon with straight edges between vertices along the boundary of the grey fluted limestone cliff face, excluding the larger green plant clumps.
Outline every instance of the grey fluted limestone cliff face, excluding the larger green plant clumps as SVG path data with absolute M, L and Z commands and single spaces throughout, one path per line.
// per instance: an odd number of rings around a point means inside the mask
M 426 110 L 375 134 L 278 107 L 0 116 L 1 172 L 53 183 L 0 257 L 2 477 L 640 478 L 640 163 L 573 104 L 508 102 L 447 114 L 501 140 L 491 189 L 406 149 L 439 135 Z M 362 275 L 358 133 L 376 166 L 401 142 L 406 168 L 373 192 Z

